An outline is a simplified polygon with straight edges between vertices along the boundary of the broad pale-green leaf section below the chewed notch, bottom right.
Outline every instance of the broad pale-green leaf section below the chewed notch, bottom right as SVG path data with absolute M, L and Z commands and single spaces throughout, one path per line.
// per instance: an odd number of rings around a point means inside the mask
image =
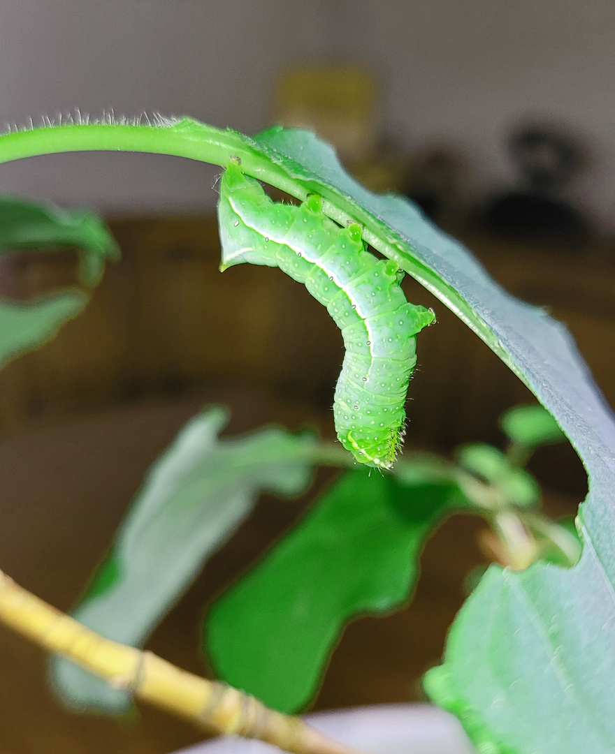
M 492 566 L 427 674 L 480 752 L 613 752 L 613 587 L 588 548 L 570 570 Z

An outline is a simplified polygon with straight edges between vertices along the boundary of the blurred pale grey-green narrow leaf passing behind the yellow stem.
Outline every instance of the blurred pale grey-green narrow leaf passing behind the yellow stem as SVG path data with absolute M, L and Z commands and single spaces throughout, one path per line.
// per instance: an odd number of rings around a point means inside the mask
M 106 562 L 73 615 L 110 639 L 140 646 L 202 564 L 235 531 L 260 492 L 297 495 L 312 476 L 315 438 L 265 428 L 219 440 L 226 410 L 192 418 L 146 476 Z M 65 660 L 53 664 L 63 698 L 120 713 L 128 694 Z

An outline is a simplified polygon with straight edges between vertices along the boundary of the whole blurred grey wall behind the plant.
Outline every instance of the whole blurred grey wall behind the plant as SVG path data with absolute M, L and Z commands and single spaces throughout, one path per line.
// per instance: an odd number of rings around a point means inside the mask
M 250 133 L 278 66 L 350 58 L 380 71 L 390 132 L 459 144 L 484 184 L 512 179 L 503 136 L 525 116 L 585 135 L 596 165 L 577 194 L 615 225 L 613 51 L 613 0 L 4 0 L 0 122 L 153 109 Z M 179 210 L 213 201 L 212 175 L 174 158 L 54 156 L 0 167 L 0 190 Z

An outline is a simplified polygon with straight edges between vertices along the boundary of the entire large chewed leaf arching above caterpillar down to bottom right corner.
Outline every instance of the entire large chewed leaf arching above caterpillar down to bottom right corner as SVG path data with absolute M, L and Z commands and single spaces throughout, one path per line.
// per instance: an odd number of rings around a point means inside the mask
M 256 141 L 364 221 L 379 250 L 475 329 L 549 409 L 588 472 L 578 565 L 492 567 L 460 612 L 429 693 L 462 713 L 484 752 L 615 751 L 615 422 L 567 329 L 502 290 L 406 201 L 359 186 L 312 134 L 274 129 Z

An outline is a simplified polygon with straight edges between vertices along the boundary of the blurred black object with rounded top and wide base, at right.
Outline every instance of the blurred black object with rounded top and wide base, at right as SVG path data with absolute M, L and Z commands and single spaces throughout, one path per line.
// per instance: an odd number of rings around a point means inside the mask
M 530 125 L 513 132 L 507 146 L 521 185 L 491 200 L 481 225 L 520 241 L 567 246 L 587 241 L 588 220 L 562 197 L 588 162 L 579 140 L 557 127 Z

